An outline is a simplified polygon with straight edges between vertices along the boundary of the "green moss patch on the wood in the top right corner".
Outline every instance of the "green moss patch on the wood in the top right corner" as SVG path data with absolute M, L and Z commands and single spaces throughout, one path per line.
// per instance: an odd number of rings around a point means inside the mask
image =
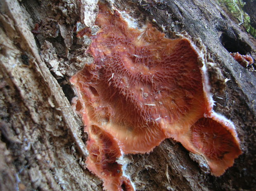
M 239 21 L 239 25 L 243 25 L 247 32 L 256 38 L 256 29 L 251 26 L 250 16 L 242 9 L 245 2 L 242 0 L 218 0 L 218 2 Z

